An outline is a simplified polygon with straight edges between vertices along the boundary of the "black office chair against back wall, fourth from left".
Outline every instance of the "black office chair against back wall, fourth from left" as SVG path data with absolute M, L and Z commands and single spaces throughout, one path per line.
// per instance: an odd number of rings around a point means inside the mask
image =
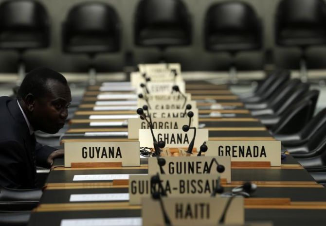
M 261 21 L 248 3 L 215 3 L 208 8 L 205 16 L 204 45 L 207 51 L 231 54 L 229 79 L 236 83 L 236 53 L 261 48 Z

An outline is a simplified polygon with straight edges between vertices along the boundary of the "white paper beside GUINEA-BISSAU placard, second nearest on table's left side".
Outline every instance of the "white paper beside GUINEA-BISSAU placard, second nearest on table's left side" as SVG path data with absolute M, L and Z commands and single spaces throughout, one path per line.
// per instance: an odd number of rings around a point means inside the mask
M 128 201 L 129 193 L 71 194 L 69 202 Z

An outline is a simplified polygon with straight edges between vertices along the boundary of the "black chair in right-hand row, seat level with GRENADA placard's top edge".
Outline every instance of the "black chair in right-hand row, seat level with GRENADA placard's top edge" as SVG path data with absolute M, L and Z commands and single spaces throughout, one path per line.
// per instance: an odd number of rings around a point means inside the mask
M 273 137 L 280 140 L 285 147 L 295 147 L 307 143 L 317 134 L 324 134 L 324 127 L 326 129 L 326 108 L 313 117 L 300 132 L 290 135 L 273 134 Z

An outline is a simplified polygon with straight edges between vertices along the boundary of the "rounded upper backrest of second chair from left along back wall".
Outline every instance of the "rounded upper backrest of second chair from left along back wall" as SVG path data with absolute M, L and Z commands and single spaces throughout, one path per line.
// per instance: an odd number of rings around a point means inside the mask
M 117 35 L 118 16 L 106 3 L 83 2 L 68 13 L 65 26 L 70 34 Z

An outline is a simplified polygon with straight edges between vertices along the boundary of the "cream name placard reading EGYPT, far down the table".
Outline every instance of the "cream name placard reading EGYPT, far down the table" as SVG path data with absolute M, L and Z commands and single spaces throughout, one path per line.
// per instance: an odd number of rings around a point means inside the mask
M 174 82 L 148 82 L 146 84 L 148 91 L 150 94 L 171 94 L 172 87 L 173 86 L 179 86 L 179 89 L 182 93 L 185 93 L 185 82 L 184 81 L 178 81 L 176 83 Z M 142 93 L 143 88 L 138 87 L 137 93 Z

